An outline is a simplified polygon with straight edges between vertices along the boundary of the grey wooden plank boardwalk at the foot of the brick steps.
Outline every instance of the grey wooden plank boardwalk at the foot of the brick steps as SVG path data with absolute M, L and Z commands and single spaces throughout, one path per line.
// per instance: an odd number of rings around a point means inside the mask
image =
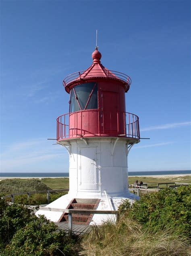
M 63 230 L 66 232 L 66 235 L 69 233 L 69 224 L 68 222 L 57 222 L 55 223 L 58 226 L 58 230 Z M 72 224 L 72 235 L 81 236 L 89 233 L 91 231 L 91 226 L 83 224 Z

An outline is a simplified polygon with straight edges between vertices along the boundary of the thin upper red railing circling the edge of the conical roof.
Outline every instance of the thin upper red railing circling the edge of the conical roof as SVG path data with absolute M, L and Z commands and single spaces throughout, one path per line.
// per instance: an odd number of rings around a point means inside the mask
M 82 79 L 88 79 L 88 78 L 112 78 L 112 79 L 119 79 L 125 82 L 127 85 L 131 85 L 131 78 L 127 76 L 126 74 L 123 74 L 118 71 L 114 70 L 91 70 L 91 72 L 88 73 L 88 70 L 83 70 L 79 72 L 72 73 L 68 76 L 66 76 L 63 80 L 63 85 L 66 87 L 73 81 L 80 81 Z

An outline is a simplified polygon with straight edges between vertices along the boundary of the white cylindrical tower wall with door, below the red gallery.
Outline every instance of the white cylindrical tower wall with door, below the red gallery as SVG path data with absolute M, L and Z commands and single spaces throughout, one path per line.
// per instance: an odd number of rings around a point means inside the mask
M 127 184 L 127 140 L 119 138 L 72 140 L 69 164 L 71 197 L 125 196 Z M 114 147 L 115 144 L 115 147 Z

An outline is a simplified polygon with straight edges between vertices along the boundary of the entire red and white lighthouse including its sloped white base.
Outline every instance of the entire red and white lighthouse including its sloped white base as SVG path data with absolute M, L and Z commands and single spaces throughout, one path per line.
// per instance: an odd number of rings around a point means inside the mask
M 69 112 L 57 118 L 56 140 L 69 153 L 69 193 L 47 207 L 71 209 L 76 204 L 78 209 L 116 210 L 122 200 L 136 197 L 128 190 L 128 153 L 140 141 L 139 117 L 125 107 L 131 78 L 105 68 L 98 47 L 91 57 L 87 70 L 63 80 Z M 61 212 L 37 214 L 67 220 Z M 86 224 L 107 218 L 94 214 Z

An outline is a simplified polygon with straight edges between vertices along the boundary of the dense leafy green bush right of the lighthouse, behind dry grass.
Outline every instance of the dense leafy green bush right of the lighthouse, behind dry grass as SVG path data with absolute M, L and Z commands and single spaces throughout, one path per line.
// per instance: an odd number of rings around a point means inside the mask
M 125 201 L 120 205 L 121 214 L 137 220 L 143 228 L 176 228 L 179 233 L 191 233 L 191 186 L 177 190 L 167 188 L 143 195 L 132 205 Z

